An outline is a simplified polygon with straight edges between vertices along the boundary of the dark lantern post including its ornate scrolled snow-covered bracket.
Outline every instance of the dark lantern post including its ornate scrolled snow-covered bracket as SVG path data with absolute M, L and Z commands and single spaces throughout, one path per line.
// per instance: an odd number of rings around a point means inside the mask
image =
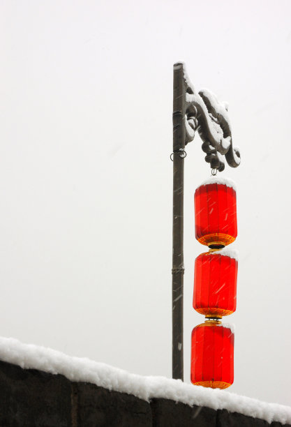
M 185 147 L 197 130 L 202 150 L 213 174 L 240 163 L 232 147 L 227 107 L 206 89 L 196 92 L 188 80 L 184 63 L 174 64 L 173 93 L 173 245 L 172 245 L 172 377 L 184 380 L 183 286 L 184 286 L 184 158 Z

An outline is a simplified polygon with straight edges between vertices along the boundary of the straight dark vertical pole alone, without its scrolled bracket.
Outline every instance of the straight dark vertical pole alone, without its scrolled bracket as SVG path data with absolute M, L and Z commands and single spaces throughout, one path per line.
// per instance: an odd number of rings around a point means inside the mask
M 172 251 L 172 377 L 184 380 L 183 285 L 184 285 L 184 157 L 185 83 L 182 63 L 174 64 L 173 96 L 173 251 Z

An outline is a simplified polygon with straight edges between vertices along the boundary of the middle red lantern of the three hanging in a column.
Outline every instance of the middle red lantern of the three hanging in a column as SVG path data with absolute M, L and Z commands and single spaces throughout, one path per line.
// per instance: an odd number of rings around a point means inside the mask
M 193 308 L 208 317 L 227 316 L 237 308 L 236 253 L 210 250 L 195 260 Z

